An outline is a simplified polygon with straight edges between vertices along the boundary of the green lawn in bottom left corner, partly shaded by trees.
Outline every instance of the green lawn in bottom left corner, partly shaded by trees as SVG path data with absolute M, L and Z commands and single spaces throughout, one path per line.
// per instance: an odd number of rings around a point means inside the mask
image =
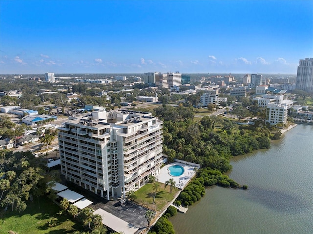
M 7 211 L 1 207 L 0 233 L 5 234 L 10 230 L 18 234 L 66 234 L 82 227 L 69 219 L 67 214 L 59 215 L 60 208 L 51 200 L 34 198 L 28 202 L 23 212 Z M 53 219 L 55 226 L 49 227 L 48 222 Z

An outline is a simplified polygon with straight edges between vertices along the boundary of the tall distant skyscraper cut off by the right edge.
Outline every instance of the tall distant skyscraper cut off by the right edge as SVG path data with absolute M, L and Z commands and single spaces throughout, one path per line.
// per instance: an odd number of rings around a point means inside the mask
M 300 59 L 296 89 L 313 92 L 313 58 Z

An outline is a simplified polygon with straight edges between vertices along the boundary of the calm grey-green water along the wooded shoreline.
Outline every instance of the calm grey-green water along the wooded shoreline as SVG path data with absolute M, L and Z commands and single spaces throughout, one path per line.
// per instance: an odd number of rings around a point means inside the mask
M 176 234 L 313 234 L 313 126 L 298 125 L 270 149 L 232 159 L 229 177 L 249 189 L 211 187 Z

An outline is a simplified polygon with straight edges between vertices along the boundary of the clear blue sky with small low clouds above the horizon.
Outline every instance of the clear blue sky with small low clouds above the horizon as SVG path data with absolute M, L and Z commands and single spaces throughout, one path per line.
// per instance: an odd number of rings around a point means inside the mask
M 296 73 L 313 1 L 0 1 L 0 74 Z

